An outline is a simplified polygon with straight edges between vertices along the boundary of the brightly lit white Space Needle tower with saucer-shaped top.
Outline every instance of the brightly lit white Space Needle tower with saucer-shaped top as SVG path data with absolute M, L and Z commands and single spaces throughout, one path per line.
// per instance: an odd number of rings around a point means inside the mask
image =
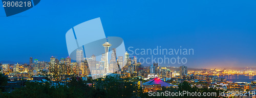
M 106 54 L 105 64 L 104 64 L 104 73 L 108 74 L 109 73 L 109 57 L 108 56 L 109 56 L 109 49 L 111 44 L 109 42 L 105 42 L 102 46 L 105 48 L 105 54 Z

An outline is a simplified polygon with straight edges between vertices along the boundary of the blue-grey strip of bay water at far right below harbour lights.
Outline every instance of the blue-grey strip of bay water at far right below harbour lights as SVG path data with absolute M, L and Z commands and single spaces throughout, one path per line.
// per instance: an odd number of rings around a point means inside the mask
M 225 75 L 219 76 L 219 78 L 225 78 L 227 81 L 232 82 L 251 82 L 256 80 L 256 76 L 245 76 L 245 75 Z

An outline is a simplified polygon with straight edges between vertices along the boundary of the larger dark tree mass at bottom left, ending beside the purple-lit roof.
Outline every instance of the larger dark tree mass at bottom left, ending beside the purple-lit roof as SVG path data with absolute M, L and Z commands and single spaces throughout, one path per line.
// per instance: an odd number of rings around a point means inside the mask
M 12 92 L 1 93 L 0 97 L 144 97 L 142 88 L 134 82 L 122 78 L 106 77 L 93 80 L 94 85 L 88 85 L 81 78 L 63 83 L 26 82 L 26 87 Z

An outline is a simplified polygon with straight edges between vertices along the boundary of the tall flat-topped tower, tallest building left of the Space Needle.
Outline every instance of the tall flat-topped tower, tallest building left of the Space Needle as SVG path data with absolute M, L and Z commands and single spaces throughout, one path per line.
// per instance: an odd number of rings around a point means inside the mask
M 76 69 L 76 70 L 79 71 L 79 74 L 83 73 L 83 62 L 82 62 L 82 60 L 83 60 L 82 50 L 77 49 L 76 50 L 76 62 L 77 62 L 78 69 Z

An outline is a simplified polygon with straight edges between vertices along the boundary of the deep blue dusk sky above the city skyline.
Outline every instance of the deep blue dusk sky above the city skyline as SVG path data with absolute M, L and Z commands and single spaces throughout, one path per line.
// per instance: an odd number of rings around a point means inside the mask
M 256 1 L 252 0 L 41 1 L 10 17 L 0 6 L 0 60 L 67 57 L 66 32 L 100 17 L 105 35 L 121 37 L 126 50 L 182 46 L 195 50 L 187 56 L 188 67 L 256 66 Z

